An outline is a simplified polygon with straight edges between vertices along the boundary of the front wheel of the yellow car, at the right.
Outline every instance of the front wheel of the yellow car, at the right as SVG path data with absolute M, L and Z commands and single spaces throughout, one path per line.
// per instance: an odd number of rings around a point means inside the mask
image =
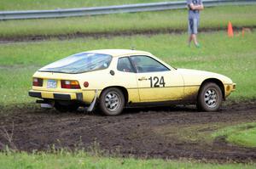
M 197 109 L 201 111 L 217 111 L 221 106 L 223 95 L 217 84 L 208 82 L 201 87 L 197 97 Z

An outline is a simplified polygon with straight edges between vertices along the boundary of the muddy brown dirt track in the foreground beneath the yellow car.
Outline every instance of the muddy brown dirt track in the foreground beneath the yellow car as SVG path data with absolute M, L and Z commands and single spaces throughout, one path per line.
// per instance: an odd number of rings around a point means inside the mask
M 126 109 L 108 117 L 84 112 L 61 114 L 55 110 L 15 110 L 0 115 L 0 149 L 12 132 L 17 149 L 31 151 L 68 147 L 90 149 L 98 143 L 110 154 L 201 161 L 256 161 L 256 149 L 236 147 L 224 138 L 207 139 L 218 127 L 256 121 L 256 101 L 223 105 L 216 113 L 195 107 Z M 195 135 L 197 137 L 195 137 Z M 206 136 L 206 137 L 205 137 Z M 200 139 L 198 139 L 200 138 Z

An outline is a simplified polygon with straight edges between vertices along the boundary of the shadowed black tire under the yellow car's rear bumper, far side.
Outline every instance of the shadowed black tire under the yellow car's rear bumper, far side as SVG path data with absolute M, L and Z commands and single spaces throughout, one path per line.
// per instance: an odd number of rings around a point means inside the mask
M 73 112 L 79 109 L 79 104 L 68 103 L 65 101 L 55 101 L 55 109 L 60 112 Z

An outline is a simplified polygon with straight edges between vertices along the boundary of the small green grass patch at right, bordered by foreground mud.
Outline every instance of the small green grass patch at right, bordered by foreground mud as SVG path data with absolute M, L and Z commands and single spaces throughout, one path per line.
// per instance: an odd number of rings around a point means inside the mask
M 256 122 L 245 123 L 233 127 L 224 127 L 214 132 L 212 137 L 217 138 L 224 136 L 231 144 L 245 147 L 256 147 Z

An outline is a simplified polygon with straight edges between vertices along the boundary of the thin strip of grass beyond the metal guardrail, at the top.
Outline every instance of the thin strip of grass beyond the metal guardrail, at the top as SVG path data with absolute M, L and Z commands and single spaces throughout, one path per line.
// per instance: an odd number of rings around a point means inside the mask
M 168 0 L 181 1 L 181 0 Z M 55 8 L 85 8 L 96 6 L 123 5 L 131 3 L 158 3 L 163 0 L 1 0 L 0 10 L 31 10 Z

